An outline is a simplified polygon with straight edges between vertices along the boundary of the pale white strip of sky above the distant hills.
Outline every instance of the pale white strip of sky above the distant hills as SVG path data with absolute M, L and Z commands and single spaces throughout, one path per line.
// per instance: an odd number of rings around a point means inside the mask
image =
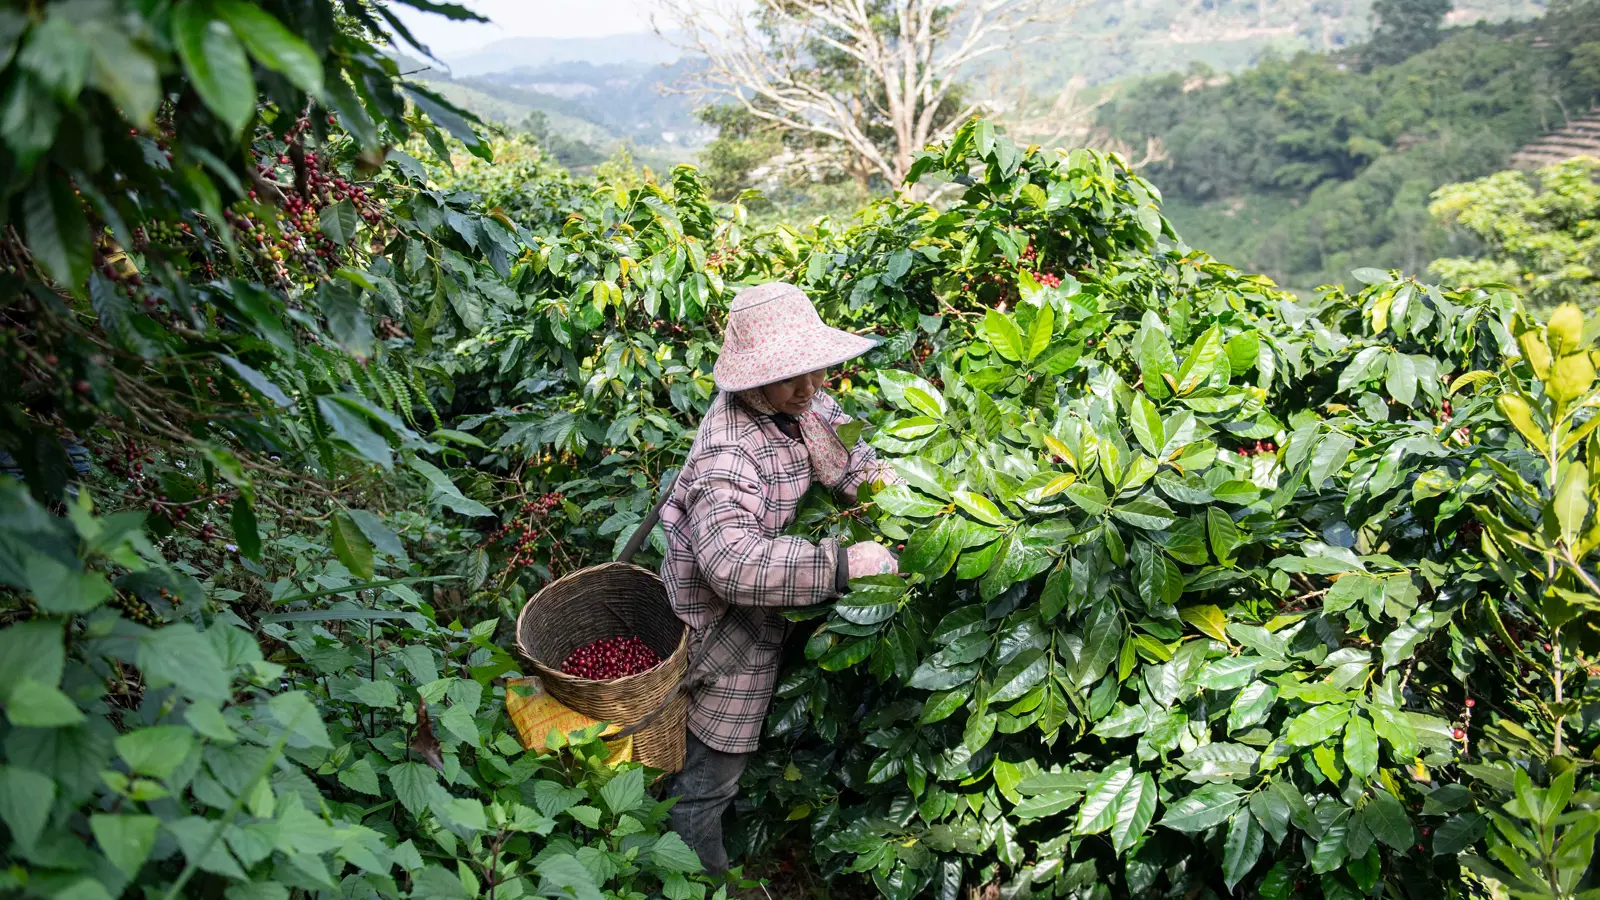
M 411 34 L 440 54 L 477 50 L 504 37 L 605 37 L 650 29 L 654 0 L 458 0 L 490 24 L 453 22 L 394 5 Z

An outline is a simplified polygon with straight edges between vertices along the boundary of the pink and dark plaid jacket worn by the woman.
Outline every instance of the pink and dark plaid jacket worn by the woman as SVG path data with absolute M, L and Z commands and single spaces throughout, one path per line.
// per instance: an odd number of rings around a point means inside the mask
M 850 421 L 827 394 L 811 404 L 834 424 Z M 891 472 L 858 442 L 837 490 L 854 501 L 862 484 Z M 690 626 L 690 660 L 702 669 L 725 666 L 690 698 L 688 727 L 712 749 L 749 753 L 760 740 L 789 629 L 776 610 L 840 593 L 843 549 L 837 541 L 782 536 L 810 487 L 805 444 L 771 416 L 718 394 L 661 511 L 667 535 L 661 578 L 672 609 Z M 725 617 L 726 626 L 707 645 Z

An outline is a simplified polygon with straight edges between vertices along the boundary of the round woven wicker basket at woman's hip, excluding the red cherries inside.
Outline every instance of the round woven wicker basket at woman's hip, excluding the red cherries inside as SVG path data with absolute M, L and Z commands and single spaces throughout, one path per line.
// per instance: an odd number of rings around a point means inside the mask
M 573 650 L 605 637 L 638 637 L 662 658 L 656 668 L 613 681 L 574 677 L 560 669 Z M 606 562 L 546 585 L 517 617 L 517 650 L 533 663 L 544 689 L 568 708 L 629 727 L 661 708 L 688 671 L 688 629 L 667 586 L 648 569 Z M 634 733 L 634 759 L 683 770 L 688 695 L 678 693 L 650 725 Z

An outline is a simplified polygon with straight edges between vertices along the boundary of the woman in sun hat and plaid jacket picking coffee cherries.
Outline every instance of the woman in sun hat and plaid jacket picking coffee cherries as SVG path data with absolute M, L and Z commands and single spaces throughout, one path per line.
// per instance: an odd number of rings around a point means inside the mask
M 854 503 L 869 480 L 898 480 L 835 429 L 850 421 L 821 391 L 826 370 L 874 348 L 829 328 L 800 288 L 739 291 L 714 375 L 718 394 L 661 512 L 662 580 L 690 626 L 691 660 L 720 673 L 690 695 L 688 754 L 672 828 L 710 871 L 728 868 L 722 814 L 739 791 L 778 677 L 782 607 L 827 602 L 851 578 L 894 572 L 877 543 L 782 536 L 813 482 Z

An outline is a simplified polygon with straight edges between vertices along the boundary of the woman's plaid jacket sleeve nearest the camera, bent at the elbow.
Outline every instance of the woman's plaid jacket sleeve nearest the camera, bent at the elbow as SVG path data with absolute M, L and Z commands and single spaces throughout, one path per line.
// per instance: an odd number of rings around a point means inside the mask
M 717 596 L 744 607 L 808 607 L 838 596 L 838 543 L 762 535 L 762 477 L 738 447 L 702 464 L 685 498 L 694 560 Z

